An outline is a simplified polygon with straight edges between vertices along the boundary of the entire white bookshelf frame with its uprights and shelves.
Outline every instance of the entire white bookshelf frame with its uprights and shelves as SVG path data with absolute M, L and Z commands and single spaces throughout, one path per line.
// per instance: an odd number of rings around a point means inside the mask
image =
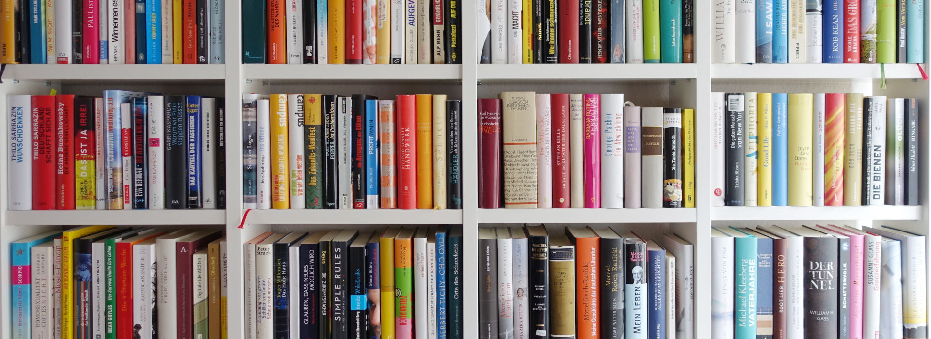
M 471 3 L 470 3 L 471 4 Z M 927 7 L 925 7 L 927 8 Z M 887 88 L 880 88 L 879 65 L 740 65 L 711 64 L 713 4 L 695 2 L 694 64 L 614 65 L 487 65 L 477 64 L 478 36 L 474 29 L 461 30 L 462 65 L 258 65 L 242 64 L 241 2 L 225 7 L 225 65 L 7 65 L 0 84 L 0 107 L 7 95 L 44 94 L 52 88 L 60 93 L 99 95 L 102 89 L 123 88 L 166 94 L 197 93 L 225 98 L 227 113 L 226 210 L 161 211 L 7 211 L 7 162 L 0 162 L 0 295 L 8 295 L 9 243 L 61 226 L 88 224 L 156 225 L 164 227 L 225 228 L 229 241 L 229 272 L 242 277 L 241 244 L 263 231 L 314 231 L 318 229 L 378 229 L 385 225 L 461 224 L 464 236 L 464 269 L 478 270 L 478 228 L 491 224 L 546 223 L 551 230 L 567 224 L 622 225 L 644 236 L 672 231 L 695 244 L 695 337 L 710 336 L 710 228 L 756 225 L 758 221 L 798 225 L 818 221 L 850 225 L 890 225 L 931 235 L 931 122 L 928 105 L 931 89 L 913 64 L 886 65 Z M 462 7 L 466 27 L 477 18 L 474 6 Z M 927 11 L 927 9 L 925 9 Z M 924 18 L 928 18 L 925 13 Z M 925 23 L 927 25 L 927 23 Z M 928 32 L 925 26 L 925 32 Z M 928 56 L 925 46 L 925 56 Z M 926 58 L 931 59 L 931 58 Z M 923 65 L 929 70 L 929 64 Z M 624 93 L 640 105 L 694 108 L 696 125 L 695 181 L 698 200 L 689 209 L 546 209 L 481 210 L 477 208 L 478 158 L 476 99 L 492 98 L 505 90 L 535 90 L 538 93 Z M 815 93 L 858 92 L 919 98 L 921 109 L 920 206 L 864 207 L 712 207 L 710 194 L 711 122 L 708 119 L 711 92 L 773 91 Z M 246 93 L 368 93 L 447 94 L 463 102 L 463 210 L 254 210 L 241 202 L 242 120 L 239 107 Z M 0 125 L 7 126 L 0 115 Z M 7 137 L 7 129 L 0 129 Z M 0 158 L 7 158 L 0 148 Z M 238 228 L 240 223 L 243 228 Z M 195 226 L 196 225 L 196 226 Z M 926 258 L 931 262 L 931 257 Z M 477 286 L 475 274 L 464 275 L 466 286 Z M 229 335 L 244 337 L 243 280 L 229 286 Z M 931 304 L 931 293 L 929 304 Z M 465 337 L 478 338 L 478 291 L 466 288 Z M 9 304 L 0 306 L 0 328 L 9 328 Z M 472 324 L 472 326 L 469 326 Z

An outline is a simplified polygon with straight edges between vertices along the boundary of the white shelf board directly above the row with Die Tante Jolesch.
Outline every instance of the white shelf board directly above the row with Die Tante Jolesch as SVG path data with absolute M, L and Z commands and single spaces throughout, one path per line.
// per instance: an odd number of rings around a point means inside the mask
M 478 65 L 479 80 L 694 79 L 694 63 Z

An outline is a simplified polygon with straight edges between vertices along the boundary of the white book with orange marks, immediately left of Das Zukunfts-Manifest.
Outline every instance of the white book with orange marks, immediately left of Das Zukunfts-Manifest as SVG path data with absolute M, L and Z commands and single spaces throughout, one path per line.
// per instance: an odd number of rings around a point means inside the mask
M 296 0 L 295 0 L 296 1 Z M 288 95 L 290 207 L 304 209 L 304 95 Z

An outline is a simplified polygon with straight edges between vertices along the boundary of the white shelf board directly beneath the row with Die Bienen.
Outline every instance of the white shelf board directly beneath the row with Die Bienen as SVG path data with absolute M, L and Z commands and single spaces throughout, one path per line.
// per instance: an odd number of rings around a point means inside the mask
M 922 206 L 711 207 L 711 220 L 918 220 Z

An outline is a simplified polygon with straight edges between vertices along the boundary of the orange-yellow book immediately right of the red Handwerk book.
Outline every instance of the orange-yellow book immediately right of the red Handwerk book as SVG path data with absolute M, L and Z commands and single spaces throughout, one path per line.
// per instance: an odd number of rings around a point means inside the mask
M 433 208 L 433 96 L 418 94 L 417 106 L 417 208 Z

